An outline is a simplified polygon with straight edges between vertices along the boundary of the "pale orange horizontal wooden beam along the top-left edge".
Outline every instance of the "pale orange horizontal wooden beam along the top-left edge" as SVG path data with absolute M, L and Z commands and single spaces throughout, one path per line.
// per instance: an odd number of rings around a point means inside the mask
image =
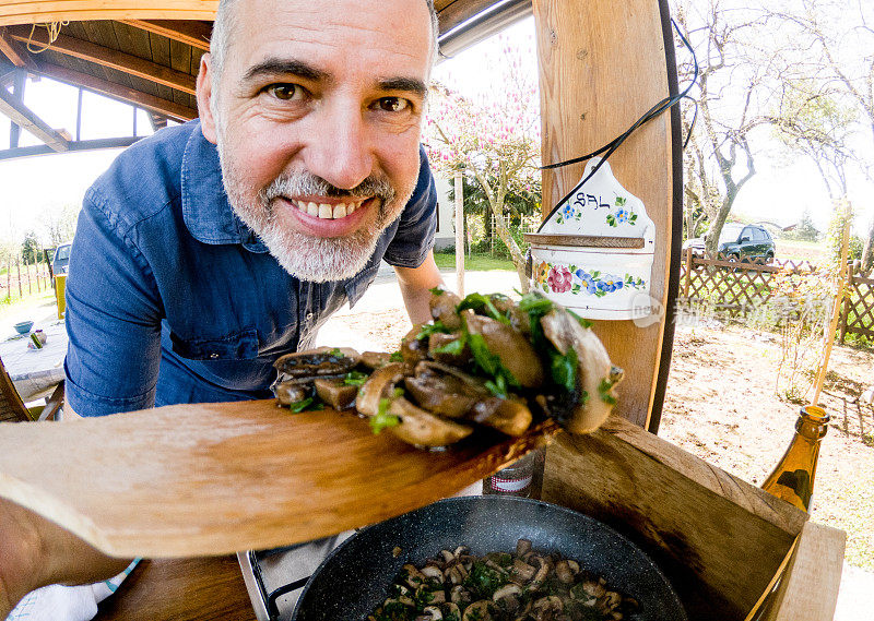
M 5 0 L 0 26 L 87 20 L 213 20 L 217 0 Z

